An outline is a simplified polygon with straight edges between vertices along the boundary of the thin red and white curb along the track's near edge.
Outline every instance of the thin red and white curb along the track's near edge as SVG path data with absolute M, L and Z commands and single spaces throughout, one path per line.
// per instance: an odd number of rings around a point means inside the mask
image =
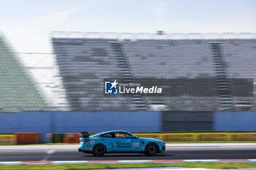
M 256 162 L 256 159 L 205 159 L 205 160 L 127 160 L 127 161 L 0 161 L 0 164 L 72 164 L 72 163 L 175 163 L 175 162 Z

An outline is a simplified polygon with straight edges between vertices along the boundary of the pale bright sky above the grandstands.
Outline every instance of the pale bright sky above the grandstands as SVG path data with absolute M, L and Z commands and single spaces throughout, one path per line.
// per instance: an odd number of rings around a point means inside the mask
M 16 52 L 52 53 L 51 31 L 256 32 L 254 0 L 0 0 Z

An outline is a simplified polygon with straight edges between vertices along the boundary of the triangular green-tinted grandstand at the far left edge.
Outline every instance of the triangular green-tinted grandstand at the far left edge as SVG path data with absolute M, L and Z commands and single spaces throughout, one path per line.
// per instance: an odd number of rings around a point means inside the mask
M 49 110 L 33 80 L 0 36 L 0 110 L 1 112 Z

